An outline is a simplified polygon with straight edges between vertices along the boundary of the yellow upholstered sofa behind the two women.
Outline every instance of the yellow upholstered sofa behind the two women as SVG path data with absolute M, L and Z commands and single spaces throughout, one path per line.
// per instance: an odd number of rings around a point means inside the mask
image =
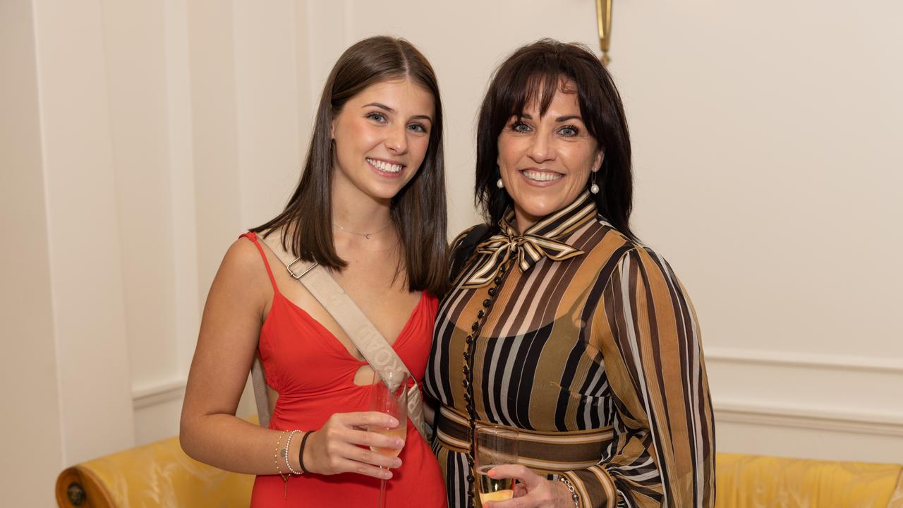
M 718 508 L 903 508 L 896 464 L 718 454 Z M 64 507 L 246 507 L 254 477 L 192 460 L 178 437 L 72 466 L 57 478 Z

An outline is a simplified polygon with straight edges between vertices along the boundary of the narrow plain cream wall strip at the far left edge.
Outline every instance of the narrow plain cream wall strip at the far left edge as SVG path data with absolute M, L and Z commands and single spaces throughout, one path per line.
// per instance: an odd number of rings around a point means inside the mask
M 0 491 L 27 506 L 64 463 L 32 8 L 0 2 Z

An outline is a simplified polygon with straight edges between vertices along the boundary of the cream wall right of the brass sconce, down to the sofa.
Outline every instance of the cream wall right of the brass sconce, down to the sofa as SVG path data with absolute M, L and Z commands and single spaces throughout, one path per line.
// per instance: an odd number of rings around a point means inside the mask
M 903 6 L 848 7 L 616 6 L 635 223 L 694 296 L 721 450 L 903 457 Z

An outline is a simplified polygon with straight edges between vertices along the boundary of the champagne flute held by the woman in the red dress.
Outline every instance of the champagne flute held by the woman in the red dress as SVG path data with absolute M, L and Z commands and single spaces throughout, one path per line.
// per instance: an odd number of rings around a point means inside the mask
M 370 390 L 370 410 L 386 413 L 398 420 L 398 427 L 370 426 L 370 432 L 377 432 L 391 437 L 407 437 L 407 382 L 409 375 L 404 371 L 375 371 L 373 385 Z M 401 448 L 370 447 L 371 450 L 385 455 L 398 456 Z M 386 478 L 379 480 L 378 508 L 386 506 Z

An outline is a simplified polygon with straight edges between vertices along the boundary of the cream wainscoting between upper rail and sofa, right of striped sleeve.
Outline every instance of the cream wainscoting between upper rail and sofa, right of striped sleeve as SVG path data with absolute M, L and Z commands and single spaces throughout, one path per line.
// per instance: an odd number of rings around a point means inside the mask
M 720 451 L 903 460 L 894 359 L 707 348 Z

